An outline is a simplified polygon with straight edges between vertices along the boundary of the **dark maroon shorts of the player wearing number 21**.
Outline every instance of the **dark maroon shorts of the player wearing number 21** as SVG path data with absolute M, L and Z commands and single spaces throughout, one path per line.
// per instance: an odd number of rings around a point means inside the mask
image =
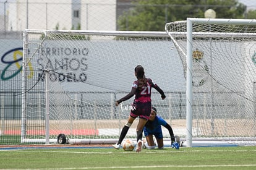
M 134 102 L 132 104 L 132 109 L 130 109 L 130 116 L 141 117 L 144 119 L 149 119 L 151 113 L 151 102 L 140 103 Z

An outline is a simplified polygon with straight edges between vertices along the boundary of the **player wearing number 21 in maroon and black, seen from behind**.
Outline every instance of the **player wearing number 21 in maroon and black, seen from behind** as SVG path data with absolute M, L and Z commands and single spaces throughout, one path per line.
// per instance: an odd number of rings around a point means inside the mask
M 161 98 L 164 100 L 166 96 L 164 95 L 163 90 L 161 90 L 156 83 L 153 83 L 151 79 L 147 79 L 145 77 L 144 69 L 141 65 L 138 65 L 134 69 L 135 76 L 137 77 L 137 80 L 134 81 L 132 85 L 132 90 L 129 94 L 121 98 L 120 100 L 116 101 L 116 106 L 119 106 L 119 104 L 122 101 L 129 100 L 132 98 L 132 96 L 135 95 L 134 102 L 132 104 L 132 109 L 130 110 L 130 115 L 128 117 L 128 120 L 124 127 L 122 128 L 121 135 L 119 137 L 119 141 L 113 145 L 114 148 L 119 149 L 120 144 L 124 137 L 126 136 L 130 125 L 132 125 L 132 122 L 136 119 L 136 117 L 139 117 L 139 122 L 137 125 L 137 147 L 136 151 L 140 152 L 142 150 L 142 130 L 144 125 L 149 119 L 150 113 L 151 113 L 151 88 L 155 88 L 160 94 Z

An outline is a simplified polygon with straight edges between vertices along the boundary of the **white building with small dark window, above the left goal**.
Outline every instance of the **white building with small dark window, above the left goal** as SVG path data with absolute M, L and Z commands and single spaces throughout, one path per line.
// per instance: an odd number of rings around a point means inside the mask
M 74 6 L 72 6 L 74 2 Z M 74 11 L 79 10 L 79 19 Z M 92 0 L 81 3 L 75 0 L 11 1 L 6 6 L 6 31 L 30 29 L 116 30 L 116 1 Z M 72 20 L 77 23 L 72 23 Z M 74 25 L 75 24 L 75 25 Z

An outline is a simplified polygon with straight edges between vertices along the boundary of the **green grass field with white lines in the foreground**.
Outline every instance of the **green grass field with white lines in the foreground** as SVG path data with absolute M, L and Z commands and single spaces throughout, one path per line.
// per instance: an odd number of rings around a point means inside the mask
M 0 148 L 0 169 L 256 169 L 256 147 Z

